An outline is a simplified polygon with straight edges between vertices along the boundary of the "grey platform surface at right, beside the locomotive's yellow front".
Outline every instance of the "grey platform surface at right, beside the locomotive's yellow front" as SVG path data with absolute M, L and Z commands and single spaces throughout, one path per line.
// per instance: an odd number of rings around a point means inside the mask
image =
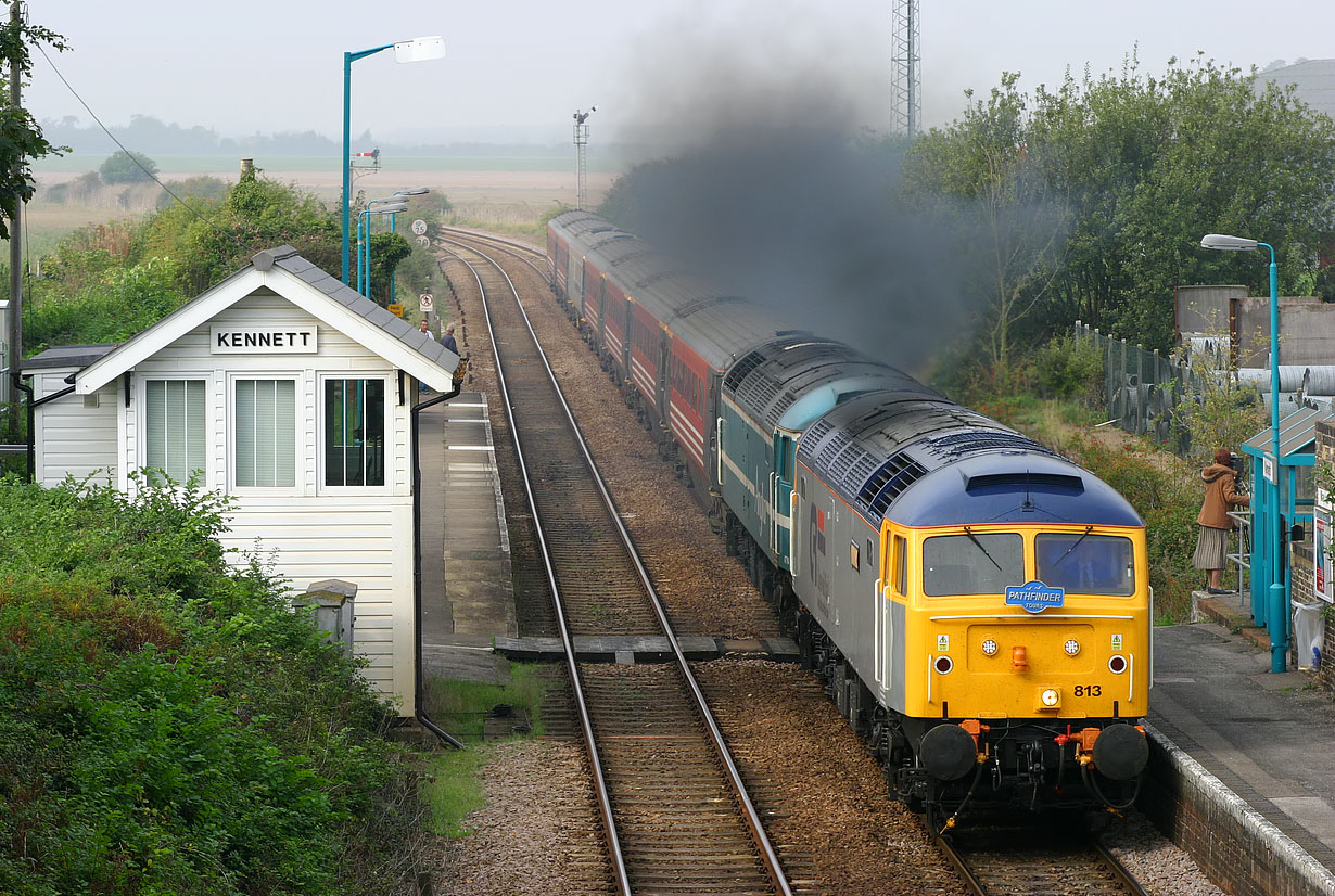
M 1147 721 L 1272 825 L 1276 861 L 1308 864 L 1312 892 L 1335 893 L 1335 697 L 1312 672 L 1270 671 L 1244 599 L 1197 592 L 1192 605 L 1199 621 L 1155 628 Z

